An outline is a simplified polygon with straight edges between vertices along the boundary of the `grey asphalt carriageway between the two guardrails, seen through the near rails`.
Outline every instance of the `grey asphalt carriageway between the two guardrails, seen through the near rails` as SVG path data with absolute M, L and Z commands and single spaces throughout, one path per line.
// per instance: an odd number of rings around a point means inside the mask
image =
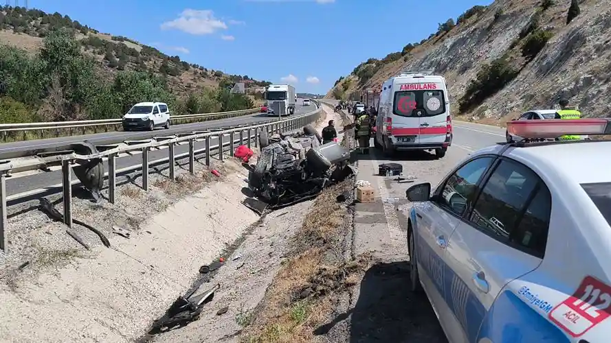
M 315 105 L 301 106 L 300 104 L 301 102 L 298 102 L 296 115 L 302 115 L 305 113 L 309 113 L 316 109 Z M 177 132 L 188 132 L 189 130 L 205 130 L 205 129 L 210 129 L 210 128 L 225 127 L 225 126 L 236 126 L 242 123 L 249 123 L 249 122 L 262 123 L 263 121 L 268 121 L 270 119 L 274 119 L 274 118 L 267 117 L 265 115 L 249 115 L 249 116 L 238 117 L 238 118 L 228 118 L 228 119 L 221 119 L 221 120 L 215 120 L 215 121 L 205 121 L 203 123 L 189 123 L 189 124 L 173 126 L 170 128 L 170 130 L 159 131 L 160 133 L 159 135 L 161 136 L 161 135 L 174 134 Z M 88 134 L 85 136 L 61 137 L 59 139 L 62 140 L 60 141 L 61 143 L 64 143 L 64 142 L 69 142 L 69 141 L 76 142 L 76 141 L 82 141 L 83 139 L 90 139 L 86 137 L 93 137 L 96 139 L 105 139 L 107 136 L 111 136 L 111 137 L 114 137 L 114 141 L 120 141 L 120 140 L 131 139 L 129 137 L 131 137 L 131 135 L 134 133 L 137 134 L 139 132 L 107 132 L 103 134 Z M 236 134 L 234 139 L 238 139 L 238 138 L 239 136 L 238 134 Z M 57 139 L 53 139 L 53 140 L 57 140 Z M 48 141 L 48 140 L 45 139 L 45 140 L 40 140 L 40 141 L 25 141 L 25 142 L 16 142 L 16 143 L 21 143 L 22 146 L 32 146 L 32 147 L 39 148 L 40 145 L 36 145 L 36 142 L 41 142 L 41 141 Z M 225 143 L 229 142 L 228 136 L 224 138 L 224 142 Z M 219 143 L 218 139 L 210 140 L 211 145 L 216 145 L 218 143 Z M 54 144 L 54 143 L 47 143 L 47 144 Z M 12 145 L 12 147 L 5 148 L 5 145 Z M 195 150 L 202 149 L 203 147 L 205 147 L 205 141 L 195 142 Z M 4 149 L 9 149 L 9 150 L 16 149 L 15 143 L 0 144 L 0 154 Z M 228 147 L 225 147 L 225 149 L 228 149 Z M 188 151 L 189 151 L 188 144 L 177 145 L 175 147 L 176 155 L 183 154 Z M 225 150 L 225 154 L 227 154 L 226 151 L 227 150 Z M 161 158 L 167 158 L 167 157 L 168 157 L 168 149 L 152 150 L 151 152 L 148 153 L 149 162 L 156 161 Z M 203 158 L 203 155 L 201 155 L 200 158 Z M 183 159 L 179 161 L 179 163 L 183 164 L 183 163 L 186 163 L 187 161 L 188 160 Z M 118 157 L 116 160 L 116 168 L 122 169 L 125 167 L 131 167 L 133 165 L 138 165 L 141 163 L 142 163 L 142 154 L 134 153 L 131 156 L 128 155 L 128 156 Z M 159 170 L 159 169 L 165 169 L 167 167 L 168 167 L 168 163 L 162 163 L 155 168 L 151 167 L 151 173 L 155 172 L 155 169 Z M 104 170 L 105 171 L 108 170 L 108 163 L 106 161 L 104 161 Z M 117 182 L 122 182 L 126 180 L 126 178 L 129 178 L 129 174 L 127 176 L 118 176 Z M 76 176 L 74 176 L 73 174 L 73 180 L 75 179 L 76 179 Z M 26 191 L 32 191 L 34 189 L 43 189 L 51 185 L 56 185 L 60 182 L 61 182 L 61 172 L 59 170 L 41 172 L 38 174 L 32 174 L 32 175 L 27 175 L 27 176 L 19 176 L 19 174 L 15 174 L 13 177 L 6 179 L 6 192 L 8 196 L 12 196 L 16 193 L 23 193 Z

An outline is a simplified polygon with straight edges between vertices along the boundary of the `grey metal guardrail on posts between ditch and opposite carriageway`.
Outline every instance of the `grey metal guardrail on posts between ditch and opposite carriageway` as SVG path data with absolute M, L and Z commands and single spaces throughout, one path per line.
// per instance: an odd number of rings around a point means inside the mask
M 320 117 L 322 113 L 322 107 L 318 102 L 315 102 L 316 110 L 304 115 L 298 115 L 295 117 L 289 117 L 278 121 L 272 121 L 268 123 L 262 123 L 254 126 L 232 128 L 228 130 L 218 130 L 212 132 L 188 132 L 185 134 L 178 134 L 175 137 L 160 137 L 161 139 L 151 139 L 148 142 L 136 143 L 133 145 L 127 145 L 124 147 L 111 147 L 103 152 L 98 152 L 91 155 L 78 155 L 75 152 L 65 152 L 64 154 L 57 154 L 54 156 L 29 156 L 26 158 L 16 158 L 15 160 L 0 161 L 0 250 L 5 253 L 8 252 L 6 242 L 6 224 L 7 224 L 7 200 L 15 200 L 20 198 L 20 194 L 8 197 L 6 194 L 6 176 L 13 169 L 19 169 L 20 171 L 34 170 L 41 167 L 49 167 L 52 165 L 61 165 L 62 169 L 62 182 L 61 190 L 63 193 L 63 217 L 64 223 L 68 226 L 72 226 L 72 186 L 78 185 L 78 181 L 71 180 L 71 168 L 76 161 L 87 161 L 97 158 L 108 158 L 108 172 L 104 175 L 104 178 L 108 178 L 108 199 L 111 204 L 115 203 L 116 198 L 116 159 L 119 153 L 140 151 L 142 152 L 142 164 L 135 165 L 121 169 L 120 172 L 133 171 L 142 169 L 142 189 L 148 191 L 148 174 L 151 162 L 148 161 L 148 152 L 155 147 L 168 147 L 168 158 L 163 158 L 164 161 L 168 162 L 170 180 L 175 180 L 176 176 L 176 161 L 177 159 L 187 158 L 189 159 L 189 172 L 190 174 L 195 173 L 195 156 L 203 154 L 205 158 L 205 165 L 210 166 L 210 157 L 212 151 L 216 150 L 219 155 L 219 161 L 224 160 L 225 147 L 229 147 L 230 156 L 234 154 L 234 147 L 236 143 L 239 145 L 246 144 L 251 147 L 254 142 L 254 146 L 258 146 L 259 132 L 265 131 L 268 134 L 272 132 L 287 132 L 293 130 L 299 130 L 303 126 L 313 123 Z M 239 138 L 236 138 L 236 134 Z M 225 143 L 225 138 L 229 137 L 229 141 Z M 218 139 L 219 143 L 216 145 L 210 145 L 212 138 Z M 205 141 L 205 147 L 200 150 L 195 150 L 196 141 Z M 185 154 L 176 155 L 175 147 L 179 142 L 188 142 L 189 152 Z M 120 144 L 122 142 L 118 142 Z M 108 147 L 108 146 L 106 146 Z M 164 161 L 158 160 L 153 163 L 163 163 Z M 32 196 L 31 192 L 26 192 L 25 196 Z

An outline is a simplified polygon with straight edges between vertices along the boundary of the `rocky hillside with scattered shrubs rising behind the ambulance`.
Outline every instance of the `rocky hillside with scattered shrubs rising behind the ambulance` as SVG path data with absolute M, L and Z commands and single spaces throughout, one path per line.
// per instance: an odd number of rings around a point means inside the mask
M 326 97 L 348 98 L 403 69 L 434 70 L 455 114 L 498 121 L 570 99 L 586 117 L 611 105 L 610 0 L 497 0 L 340 78 Z

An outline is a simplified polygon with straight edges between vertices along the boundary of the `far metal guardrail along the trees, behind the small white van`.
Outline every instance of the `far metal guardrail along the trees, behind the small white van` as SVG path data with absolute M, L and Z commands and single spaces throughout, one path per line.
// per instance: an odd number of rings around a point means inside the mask
M 249 110 L 233 110 L 229 112 L 217 113 L 198 113 L 193 115 L 173 115 L 170 116 L 172 123 L 185 121 L 202 121 L 222 118 L 240 117 L 242 115 L 252 115 L 258 113 L 260 108 L 251 108 Z M 49 121 L 38 123 L 0 123 L 0 135 L 3 141 L 8 141 L 11 135 L 16 136 L 17 132 L 23 133 L 23 141 L 27 141 L 29 132 L 37 132 L 39 138 L 43 138 L 44 132 L 53 130 L 52 136 L 60 137 L 61 130 L 68 130 L 67 136 L 72 136 L 75 133 L 85 134 L 87 129 L 93 130 L 93 133 L 118 131 L 117 126 L 122 126 L 122 118 L 118 119 L 98 119 L 98 120 L 80 120 L 80 121 Z M 112 130 L 110 130 L 112 129 Z M 80 130 L 80 132 L 78 132 Z M 102 131 L 98 131 L 102 130 Z M 76 131 L 76 132 L 75 132 Z

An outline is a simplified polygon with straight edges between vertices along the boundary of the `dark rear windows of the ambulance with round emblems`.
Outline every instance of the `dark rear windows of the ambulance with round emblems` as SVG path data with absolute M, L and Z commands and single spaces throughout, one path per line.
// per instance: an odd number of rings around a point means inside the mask
M 399 91 L 392 113 L 401 117 L 432 117 L 445 113 L 443 91 Z

